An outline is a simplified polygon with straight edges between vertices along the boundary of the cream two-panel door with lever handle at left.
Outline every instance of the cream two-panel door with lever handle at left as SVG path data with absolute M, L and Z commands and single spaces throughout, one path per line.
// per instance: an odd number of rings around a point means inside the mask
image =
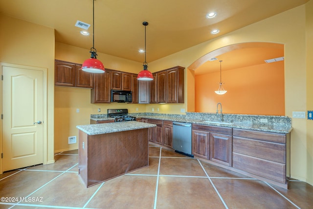
M 43 163 L 44 71 L 9 64 L 1 69 L 3 171 Z

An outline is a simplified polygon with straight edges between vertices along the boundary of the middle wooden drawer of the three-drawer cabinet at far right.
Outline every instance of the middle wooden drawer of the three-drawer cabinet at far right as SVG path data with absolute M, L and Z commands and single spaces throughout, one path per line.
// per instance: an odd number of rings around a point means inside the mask
M 286 163 L 286 144 L 233 137 L 233 151 L 263 158 L 278 163 Z

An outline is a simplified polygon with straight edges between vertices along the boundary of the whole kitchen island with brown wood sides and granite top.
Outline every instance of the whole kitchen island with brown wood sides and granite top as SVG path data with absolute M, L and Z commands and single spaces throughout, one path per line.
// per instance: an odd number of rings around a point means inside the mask
M 128 121 L 76 126 L 78 173 L 87 187 L 149 165 L 148 128 Z

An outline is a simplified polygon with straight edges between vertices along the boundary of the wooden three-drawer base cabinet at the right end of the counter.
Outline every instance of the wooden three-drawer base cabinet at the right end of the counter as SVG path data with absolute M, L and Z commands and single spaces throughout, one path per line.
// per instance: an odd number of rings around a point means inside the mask
M 233 129 L 233 167 L 287 184 L 290 134 Z

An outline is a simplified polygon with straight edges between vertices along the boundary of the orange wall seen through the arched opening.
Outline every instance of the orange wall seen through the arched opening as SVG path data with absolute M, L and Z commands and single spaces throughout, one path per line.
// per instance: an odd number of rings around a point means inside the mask
M 195 76 L 195 112 L 285 116 L 284 62 L 246 68 L 222 69 L 227 93 L 218 95 L 220 72 Z

